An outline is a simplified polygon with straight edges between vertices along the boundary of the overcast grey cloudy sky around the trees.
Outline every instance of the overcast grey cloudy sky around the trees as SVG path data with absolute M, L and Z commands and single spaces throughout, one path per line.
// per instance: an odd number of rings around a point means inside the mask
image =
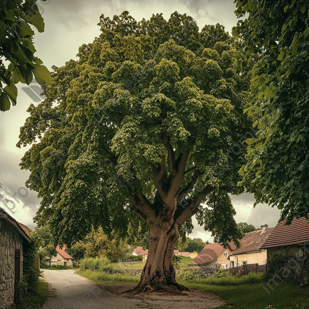
M 37 2 L 41 6 L 42 16 L 45 21 L 45 32 L 37 33 L 34 39 L 36 56 L 42 59 L 44 65 L 51 69 L 51 66 L 63 66 L 66 61 L 75 59 L 78 47 L 83 43 L 90 43 L 95 36 L 99 36 L 99 16 L 103 13 L 112 18 L 122 11 L 129 11 L 138 21 L 142 18 L 149 19 L 154 13 L 163 13 L 168 19 L 174 11 L 187 13 L 197 20 L 197 25 L 201 29 L 205 24 L 220 23 L 226 30 L 231 32 L 236 24 L 237 18 L 234 15 L 235 5 L 233 0 L 47 0 L 47 2 Z M 19 137 L 19 128 L 28 117 L 26 112 L 33 100 L 18 85 L 18 103 L 11 107 L 10 111 L 0 114 L 0 148 L 2 157 L 0 160 L 0 205 L 5 208 L 5 201 L 12 200 L 15 203 L 14 212 L 9 212 L 15 219 L 35 227 L 32 218 L 40 204 L 36 193 L 28 191 L 25 181 L 29 172 L 21 171 L 19 167 L 20 159 L 28 147 L 16 148 Z M 19 190 L 19 191 L 18 191 Z M 16 193 L 16 194 L 15 194 Z M 14 197 L 15 196 L 15 199 Z M 21 197 L 24 196 L 24 197 Z M 248 222 L 258 227 L 267 223 L 274 226 L 279 219 L 280 212 L 267 205 L 258 205 L 253 208 L 254 198 L 249 194 L 232 197 L 233 205 L 237 211 L 236 222 Z M 13 208 L 12 203 L 7 203 Z M 6 208 L 5 208 L 6 209 Z M 6 209 L 7 210 L 7 209 Z M 194 231 L 191 237 L 200 237 L 203 240 L 213 240 L 209 232 L 205 232 L 202 227 L 194 221 Z

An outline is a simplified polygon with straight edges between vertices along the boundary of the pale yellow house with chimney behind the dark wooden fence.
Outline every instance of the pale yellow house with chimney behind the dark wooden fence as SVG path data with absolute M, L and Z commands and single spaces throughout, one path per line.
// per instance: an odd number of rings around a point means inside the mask
M 264 224 L 262 230 L 247 233 L 240 239 L 240 247 L 229 255 L 231 267 L 243 264 L 267 264 L 267 250 L 262 248 L 274 227 Z

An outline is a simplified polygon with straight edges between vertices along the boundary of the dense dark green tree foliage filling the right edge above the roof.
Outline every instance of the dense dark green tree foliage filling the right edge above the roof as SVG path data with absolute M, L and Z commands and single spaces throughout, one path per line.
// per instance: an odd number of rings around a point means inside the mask
M 281 220 L 309 213 L 309 1 L 237 0 L 233 29 L 240 53 L 254 67 L 247 112 L 256 134 L 248 139 L 242 184 L 256 203 L 281 209 Z M 244 59 L 244 58 L 243 58 Z

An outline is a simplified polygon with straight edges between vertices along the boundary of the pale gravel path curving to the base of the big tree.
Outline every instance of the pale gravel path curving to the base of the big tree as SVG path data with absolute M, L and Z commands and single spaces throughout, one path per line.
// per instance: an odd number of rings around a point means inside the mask
M 214 309 L 223 305 L 218 296 L 193 291 L 181 296 L 154 293 L 150 295 L 120 294 L 132 284 L 107 284 L 99 288 L 74 270 L 44 270 L 51 296 L 43 309 Z

